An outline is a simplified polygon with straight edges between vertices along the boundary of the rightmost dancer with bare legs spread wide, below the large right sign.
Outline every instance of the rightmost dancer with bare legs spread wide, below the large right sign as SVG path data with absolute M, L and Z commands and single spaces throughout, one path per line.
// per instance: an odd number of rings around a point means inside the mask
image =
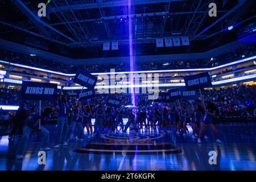
M 200 132 L 199 132 L 199 138 L 197 139 L 197 143 L 201 143 L 201 138 L 203 134 L 205 133 L 205 124 L 208 124 L 210 129 L 213 131 L 214 137 L 216 138 L 216 143 L 222 143 L 221 140 L 218 138 L 218 133 L 216 130 L 216 127 L 213 125 L 213 117 L 216 116 L 218 113 L 218 108 L 212 104 L 211 102 L 205 103 L 205 110 L 204 115 L 201 118 L 200 121 Z

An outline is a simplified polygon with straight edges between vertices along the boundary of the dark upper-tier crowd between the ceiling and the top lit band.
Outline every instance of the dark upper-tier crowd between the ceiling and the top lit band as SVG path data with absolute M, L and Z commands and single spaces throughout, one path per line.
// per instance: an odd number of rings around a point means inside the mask
M 230 63 L 231 61 L 242 59 L 244 57 L 250 57 L 256 55 L 256 45 L 237 48 L 234 51 L 226 52 L 216 57 L 207 57 L 205 59 L 197 60 L 163 60 L 153 62 L 148 60 L 147 62 L 135 63 L 134 68 L 137 71 L 143 70 L 159 70 L 159 69 L 185 69 L 185 68 L 210 68 Z M 129 71 L 130 65 L 128 63 L 109 63 L 109 64 L 86 64 L 86 65 L 67 65 L 59 63 L 54 60 L 46 59 L 42 56 L 30 56 L 24 53 L 17 53 L 0 49 L 0 59 L 9 61 L 10 63 L 19 63 L 24 65 L 31 65 L 37 68 L 49 69 L 52 71 L 63 73 L 75 73 L 77 68 L 85 69 L 90 73 L 98 72 L 110 72 L 110 69 L 115 69 L 116 72 Z

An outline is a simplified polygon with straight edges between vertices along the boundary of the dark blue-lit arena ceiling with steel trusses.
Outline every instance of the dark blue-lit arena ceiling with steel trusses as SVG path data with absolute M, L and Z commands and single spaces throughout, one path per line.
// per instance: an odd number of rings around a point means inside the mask
M 48 0 L 47 17 L 39 18 L 40 2 L 47 0 L 2 0 L 0 38 L 41 42 L 42 48 L 49 42 L 68 48 L 100 46 L 106 41 L 122 45 L 129 44 L 131 23 L 135 44 L 188 36 L 193 45 L 221 39 L 218 34 L 227 27 L 255 17 L 256 6 L 254 0 Z M 217 17 L 208 15 L 212 2 Z

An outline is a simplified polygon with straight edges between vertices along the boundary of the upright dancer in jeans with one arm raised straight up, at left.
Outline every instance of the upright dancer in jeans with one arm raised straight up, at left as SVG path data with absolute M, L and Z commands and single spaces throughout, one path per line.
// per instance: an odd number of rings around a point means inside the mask
M 68 113 L 69 113 L 69 104 L 68 104 L 68 98 L 67 96 L 62 97 L 62 91 L 64 86 L 61 86 L 60 92 L 59 92 L 59 115 L 57 118 L 57 131 L 55 136 L 55 144 L 54 148 L 59 148 L 61 145 L 67 146 L 68 143 L 65 142 L 65 139 L 67 138 L 68 134 Z

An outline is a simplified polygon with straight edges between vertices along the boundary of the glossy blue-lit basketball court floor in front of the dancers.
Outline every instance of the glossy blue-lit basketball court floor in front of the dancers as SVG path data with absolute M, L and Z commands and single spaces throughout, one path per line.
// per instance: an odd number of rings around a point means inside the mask
M 56 129 L 52 126 L 47 129 L 53 146 Z M 255 125 L 217 125 L 217 129 L 222 144 L 214 143 L 209 130 L 206 131 L 209 139 L 202 140 L 202 144 L 197 144 L 190 135 L 137 135 L 132 131 L 127 136 L 122 133 L 105 134 L 102 138 L 86 138 L 83 142 L 71 140 L 67 147 L 57 150 L 52 147 L 47 152 L 46 165 L 38 164 L 41 140 L 38 135 L 32 136 L 23 160 L 14 158 L 17 140 L 1 137 L 0 170 L 256 170 Z M 181 152 L 164 151 L 171 146 Z M 110 151 L 77 152 L 77 148 Z M 127 152 L 129 150 L 133 152 Z M 138 152 L 141 150 L 151 152 Z M 209 164 L 209 151 L 217 152 L 216 165 Z

